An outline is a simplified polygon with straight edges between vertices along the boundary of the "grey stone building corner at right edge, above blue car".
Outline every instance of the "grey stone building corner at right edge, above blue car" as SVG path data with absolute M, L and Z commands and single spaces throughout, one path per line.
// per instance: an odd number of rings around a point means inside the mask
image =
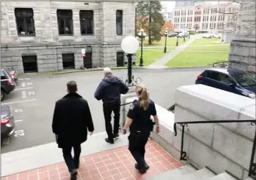
M 255 2 L 240 2 L 237 31 L 230 45 L 229 67 L 248 71 L 255 77 Z

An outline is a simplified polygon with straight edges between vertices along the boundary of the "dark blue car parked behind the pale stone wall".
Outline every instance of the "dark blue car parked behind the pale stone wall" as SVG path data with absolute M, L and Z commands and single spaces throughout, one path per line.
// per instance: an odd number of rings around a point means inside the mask
M 208 69 L 198 75 L 195 84 L 209 85 L 227 92 L 255 99 L 256 79 L 244 71 L 223 68 Z

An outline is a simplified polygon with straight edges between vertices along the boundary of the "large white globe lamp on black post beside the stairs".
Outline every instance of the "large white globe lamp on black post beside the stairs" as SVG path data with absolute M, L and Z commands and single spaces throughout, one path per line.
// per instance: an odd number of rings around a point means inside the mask
M 135 36 L 126 36 L 121 42 L 121 48 L 128 57 L 128 86 L 132 85 L 132 55 L 139 49 L 139 41 Z

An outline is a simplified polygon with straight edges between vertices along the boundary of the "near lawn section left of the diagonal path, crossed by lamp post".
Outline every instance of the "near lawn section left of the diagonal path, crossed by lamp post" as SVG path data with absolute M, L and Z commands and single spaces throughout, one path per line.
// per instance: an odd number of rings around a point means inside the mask
M 167 53 L 170 53 L 170 50 L 167 50 Z M 167 55 L 167 53 L 163 53 L 163 50 L 143 50 L 143 64 L 144 66 L 148 66 L 153 62 L 159 60 L 161 57 Z M 137 66 L 139 66 L 139 61 L 141 57 L 141 51 L 138 50 L 137 54 Z

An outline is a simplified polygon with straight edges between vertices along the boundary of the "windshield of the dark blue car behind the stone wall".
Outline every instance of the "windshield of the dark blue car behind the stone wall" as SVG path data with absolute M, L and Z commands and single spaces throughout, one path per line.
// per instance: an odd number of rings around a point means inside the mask
M 240 73 L 240 74 L 230 74 L 237 83 L 242 87 L 249 87 L 256 85 L 255 78 L 251 77 L 249 74 Z

